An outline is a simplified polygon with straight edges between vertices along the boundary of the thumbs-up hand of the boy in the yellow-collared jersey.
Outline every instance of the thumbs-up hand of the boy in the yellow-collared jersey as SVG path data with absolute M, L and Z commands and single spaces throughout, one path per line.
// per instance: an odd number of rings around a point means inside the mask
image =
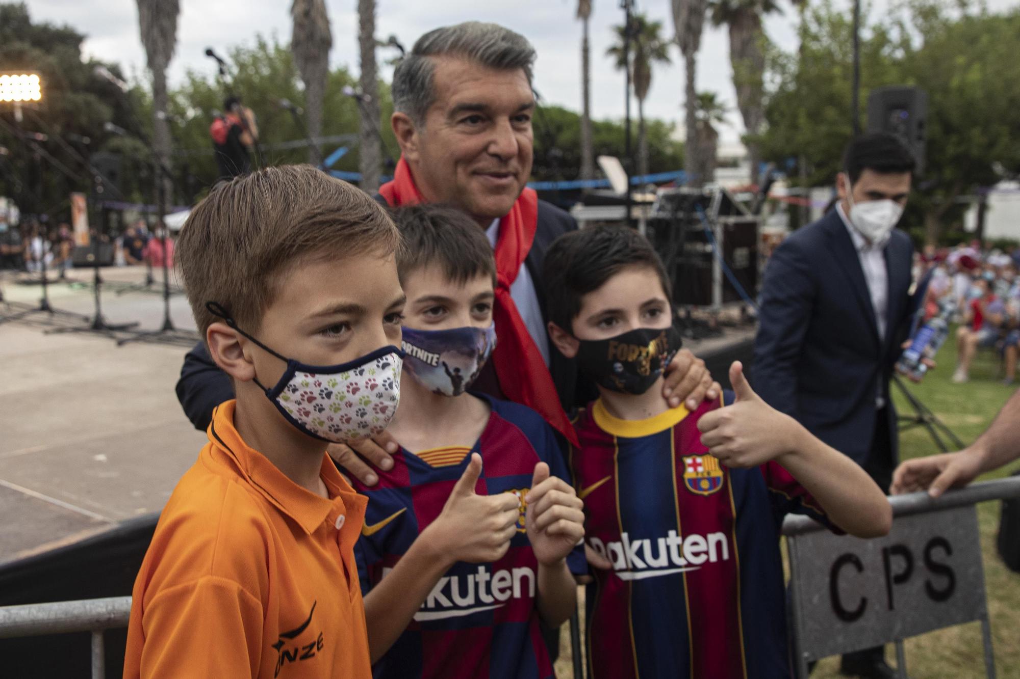
M 757 467 L 789 453 L 803 427 L 755 394 L 740 361 L 729 366 L 729 381 L 736 402 L 698 420 L 709 453 L 732 468 Z

